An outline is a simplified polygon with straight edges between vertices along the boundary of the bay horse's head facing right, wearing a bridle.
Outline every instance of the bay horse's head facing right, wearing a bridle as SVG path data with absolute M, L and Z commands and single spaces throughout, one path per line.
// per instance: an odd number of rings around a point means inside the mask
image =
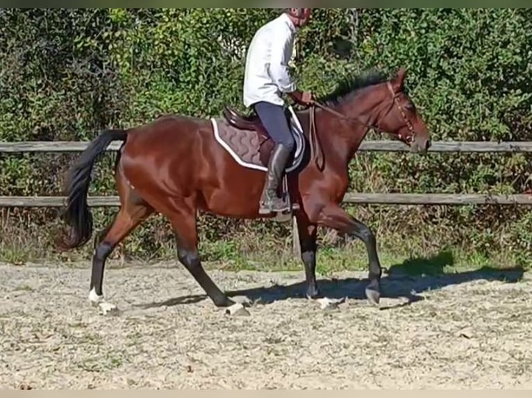
M 405 69 L 399 69 L 397 76 L 381 85 L 383 101 L 379 105 L 376 126 L 410 146 L 413 152 L 426 153 L 431 146 L 429 130 L 422 121 L 413 101 L 403 91 Z

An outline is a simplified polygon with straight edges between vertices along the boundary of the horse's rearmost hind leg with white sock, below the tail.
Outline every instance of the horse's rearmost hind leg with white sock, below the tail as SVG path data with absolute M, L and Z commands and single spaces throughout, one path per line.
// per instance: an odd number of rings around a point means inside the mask
M 94 239 L 89 300 L 93 305 L 99 305 L 104 313 L 116 309 L 103 298 L 103 270 L 106 260 L 116 246 L 153 212 L 152 207 L 123 182 L 120 184 L 120 181 L 119 193 L 122 207 L 115 220 Z

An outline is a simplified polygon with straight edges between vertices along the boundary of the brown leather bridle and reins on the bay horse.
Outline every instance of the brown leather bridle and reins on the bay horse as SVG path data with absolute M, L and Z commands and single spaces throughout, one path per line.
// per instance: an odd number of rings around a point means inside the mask
M 385 115 L 388 115 L 392 111 L 392 108 L 394 105 L 397 106 L 397 109 L 399 110 L 399 114 L 401 114 L 401 117 L 403 118 L 405 122 L 406 128 L 408 128 L 408 132 L 410 132 L 410 134 L 406 136 L 403 135 L 402 133 L 399 133 L 399 139 L 405 141 L 407 144 L 412 144 L 412 142 L 415 140 L 416 132 L 414 130 L 414 127 L 412 126 L 412 123 L 410 123 L 410 119 L 408 119 L 408 117 L 406 116 L 406 113 L 404 112 L 404 109 L 401 106 L 401 103 L 399 103 L 398 98 L 401 92 L 394 92 L 392 83 L 390 83 L 389 81 L 386 82 L 386 86 L 388 87 L 388 91 L 390 91 L 390 94 L 392 94 L 392 98 L 391 98 L 392 101 L 390 101 L 390 107 L 388 108 L 388 111 L 385 113 Z M 383 107 L 386 104 L 387 102 L 385 101 L 383 104 L 381 104 L 381 107 Z M 322 170 L 322 167 L 324 165 L 324 155 L 323 155 L 322 147 L 321 145 L 319 145 L 319 139 L 316 134 L 316 123 L 315 123 L 316 107 L 319 107 L 322 110 L 335 115 L 339 119 L 349 121 L 351 123 L 358 123 L 362 126 L 365 126 L 366 128 L 375 130 L 376 132 L 386 132 L 379 126 L 379 124 L 376 124 L 375 122 L 366 123 L 365 121 L 360 120 L 358 117 L 345 116 L 344 114 L 341 114 L 340 112 L 333 110 L 331 107 L 328 107 L 327 105 L 319 103 L 318 101 L 313 101 L 313 103 L 310 104 L 310 122 L 309 122 L 310 124 L 309 135 L 310 135 L 310 141 L 311 141 L 310 142 L 310 157 L 315 159 L 316 165 L 318 166 L 319 170 Z M 375 113 L 379 114 L 379 112 L 375 112 Z M 319 157 L 322 160 L 321 162 L 322 166 L 320 166 L 318 163 L 315 150 L 319 151 L 319 155 L 320 155 Z

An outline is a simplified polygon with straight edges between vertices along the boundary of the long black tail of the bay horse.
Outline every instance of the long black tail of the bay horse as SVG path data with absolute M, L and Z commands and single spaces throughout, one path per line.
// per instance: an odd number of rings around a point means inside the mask
M 76 164 L 67 175 L 67 204 L 62 218 L 68 226 L 67 232 L 60 237 L 57 245 L 63 250 L 79 248 L 88 242 L 92 235 L 92 214 L 87 196 L 94 162 L 113 141 L 126 141 L 126 130 L 106 130 L 92 140 L 83 150 Z

